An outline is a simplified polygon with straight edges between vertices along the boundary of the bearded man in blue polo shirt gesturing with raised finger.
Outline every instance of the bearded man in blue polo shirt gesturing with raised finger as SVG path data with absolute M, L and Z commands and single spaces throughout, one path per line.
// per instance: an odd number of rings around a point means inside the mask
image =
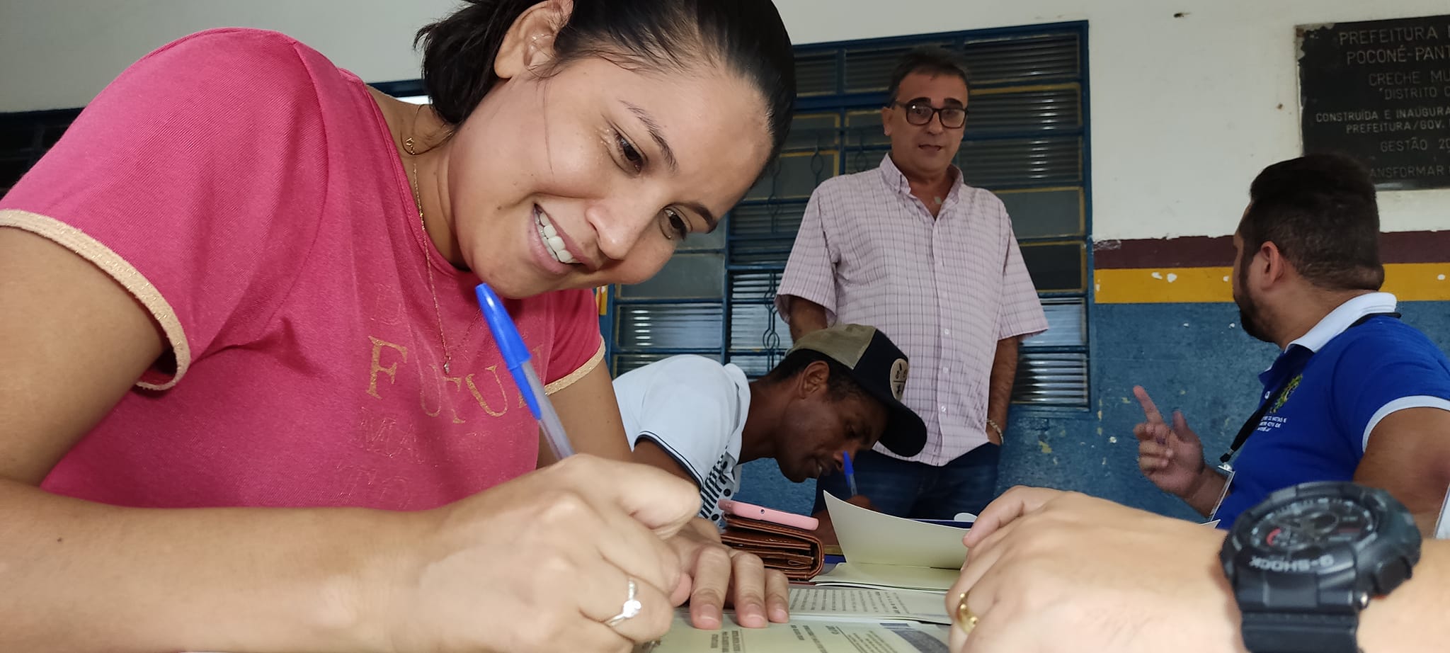
M 1379 209 L 1364 168 L 1308 155 L 1264 168 L 1234 234 L 1244 332 L 1283 353 L 1230 464 L 1208 464 L 1180 412 L 1143 387 L 1134 428 L 1148 480 L 1228 528 L 1270 492 L 1308 480 L 1388 489 L 1433 522 L 1450 485 L 1450 361 L 1379 292 Z

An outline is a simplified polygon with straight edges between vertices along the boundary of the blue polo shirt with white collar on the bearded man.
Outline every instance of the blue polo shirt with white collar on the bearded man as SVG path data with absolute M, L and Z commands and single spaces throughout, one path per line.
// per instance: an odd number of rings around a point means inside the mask
M 1389 293 L 1350 299 L 1259 374 L 1260 402 L 1286 379 L 1289 389 L 1238 450 L 1232 486 L 1214 514 L 1219 528 L 1280 488 L 1353 479 L 1370 432 L 1386 415 L 1421 406 L 1450 411 L 1450 360 L 1430 338 L 1388 315 L 1351 328 L 1366 315 L 1393 311 Z

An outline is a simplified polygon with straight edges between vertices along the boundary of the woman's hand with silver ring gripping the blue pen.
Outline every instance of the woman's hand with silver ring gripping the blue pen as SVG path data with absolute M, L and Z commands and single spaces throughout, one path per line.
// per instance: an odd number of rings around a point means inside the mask
M 628 652 L 670 627 L 683 578 L 663 538 L 697 511 L 682 479 L 571 456 L 407 515 L 413 528 L 386 544 L 383 583 L 360 579 L 360 618 L 381 625 L 381 650 Z M 606 625 L 631 580 L 638 615 Z

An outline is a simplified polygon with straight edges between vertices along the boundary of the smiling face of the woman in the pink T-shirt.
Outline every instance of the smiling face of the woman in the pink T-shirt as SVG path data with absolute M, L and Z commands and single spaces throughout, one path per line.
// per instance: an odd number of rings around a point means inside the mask
M 764 99 L 724 65 L 589 57 L 536 74 L 547 48 L 522 49 L 500 52 L 444 180 L 463 263 L 505 296 L 650 279 L 767 163 Z

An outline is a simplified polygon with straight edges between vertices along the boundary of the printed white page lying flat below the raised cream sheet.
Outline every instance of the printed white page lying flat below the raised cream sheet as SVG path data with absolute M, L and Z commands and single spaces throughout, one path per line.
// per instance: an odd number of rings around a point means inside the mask
M 937 592 L 909 589 L 790 588 L 790 618 L 876 621 L 909 620 L 950 624 L 947 601 Z

